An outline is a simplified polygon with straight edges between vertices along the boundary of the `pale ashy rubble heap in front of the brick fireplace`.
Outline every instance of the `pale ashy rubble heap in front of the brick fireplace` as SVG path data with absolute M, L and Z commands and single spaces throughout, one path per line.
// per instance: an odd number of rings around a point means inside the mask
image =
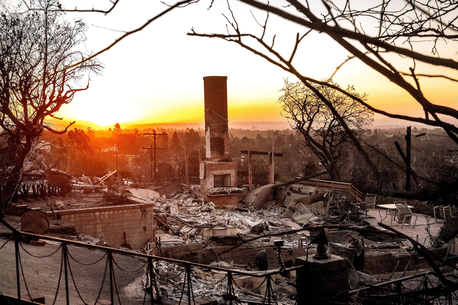
M 301 229 L 292 219 L 280 219 L 285 208 L 278 205 L 256 211 L 217 209 L 219 207 L 215 207 L 212 202 L 205 203 L 202 198 L 192 193 L 179 193 L 170 199 L 155 200 L 158 203 L 155 218 L 158 220 L 158 228 L 162 228 L 156 230 L 156 236 L 160 237 L 162 247 L 202 243 L 220 236 L 235 235 L 241 240 L 247 240 L 263 233 Z M 175 238 L 171 235 L 175 235 Z M 298 246 L 302 235 L 304 234 L 293 235 L 290 240 L 285 241 L 285 246 Z M 180 236 L 181 241 L 176 236 Z M 282 237 L 285 238 L 280 236 L 272 239 Z M 267 236 L 251 241 L 250 246 L 268 246 L 270 241 L 271 238 Z M 154 244 L 153 240 L 145 246 L 145 251 L 154 246 L 151 244 Z

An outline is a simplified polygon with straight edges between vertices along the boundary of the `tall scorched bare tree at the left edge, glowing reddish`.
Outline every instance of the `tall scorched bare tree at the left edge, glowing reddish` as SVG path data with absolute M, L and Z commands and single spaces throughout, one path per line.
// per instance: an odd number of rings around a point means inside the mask
M 88 88 L 88 82 L 80 85 L 83 76 L 100 70 L 96 60 L 84 61 L 90 54 L 76 49 L 86 39 L 85 23 L 63 20 L 57 0 L 36 5 L 40 10 L 25 12 L 0 3 L 0 127 L 9 146 L 1 155 L 1 163 L 8 166 L 0 172 L 0 214 L 16 193 L 43 130 L 63 134 L 75 123 L 56 131 L 45 118 L 56 118 L 62 105 Z

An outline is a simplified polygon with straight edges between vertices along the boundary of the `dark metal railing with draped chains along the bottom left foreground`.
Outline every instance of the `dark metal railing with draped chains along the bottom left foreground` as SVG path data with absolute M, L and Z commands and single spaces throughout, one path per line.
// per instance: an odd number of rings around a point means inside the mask
M 7 228 L 11 230 L 11 240 L 7 239 L 5 243 L 3 243 L 0 246 L 0 257 L 6 257 L 5 252 L 1 253 L 5 245 L 8 242 L 11 242 L 11 241 L 14 242 L 14 249 L 15 249 L 14 255 L 15 255 L 15 262 L 16 262 L 16 291 L 17 291 L 17 297 L 16 296 L 9 297 L 9 296 L 5 296 L 5 294 L 3 294 L 3 292 L 0 290 L 0 301 L 3 300 L 3 303 L 1 304 L 24 304 L 21 301 L 21 293 L 23 293 L 23 291 L 21 290 L 21 286 L 22 287 L 25 286 L 27 295 L 31 298 L 31 291 L 29 289 L 30 285 L 27 285 L 27 280 L 26 280 L 27 278 L 26 274 L 28 273 L 26 270 L 24 270 L 24 265 L 22 264 L 22 260 L 21 260 L 22 251 L 37 259 L 44 258 L 44 257 L 50 257 L 52 255 L 58 255 L 60 252 L 60 256 L 61 256 L 60 272 L 59 272 L 59 279 L 57 283 L 56 293 L 55 293 L 54 300 L 52 303 L 53 305 L 60 304 L 60 303 L 56 303 L 57 296 L 59 294 L 60 289 L 65 289 L 65 303 L 67 305 L 72 304 L 74 301 L 70 297 L 71 290 L 72 290 L 71 292 L 73 295 L 76 292 L 78 298 L 82 300 L 83 304 L 94 304 L 94 305 L 98 304 L 97 302 L 102 298 L 102 291 L 104 290 L 104 288 L 106 289 L 105 283 L 108 283 L 108 282 L 109 282 L 109 300 L 111 304 L 115 304 L 114 302 L 121 304 L 120 293 L 118 291 L 119 285 L 116 284 L 116 270 L 115 269 L 120 269 L 126 272 L 138 272 L 142 268 L 145 268 L 145 274 L 147 275 L 147 278 L 149 278 L 149 289 L 145 289 L 142 304 L 147 304 L 147 291 L 148 290 L 151 295 L 150 304 L 155 304 L 156 300 L 154 296 L 156 296 L 158 293 L 157 291 L 158 286 L 154 285 L 153 282 L 155 282 L 155 280 L 153 281 L 153 279 L 157 278 L 158 276 L 159 277 L 161 276 L 160 274 L 156 272 L 157 270 L 156 270 L 155 264 L 153 264 L 153 262 L 156 262 L 156 261 L 162 261 L 162 262 L 166 262 L 170 264 L 178 264 L 182 266 L 182 271 L 179 274 L 174 276 L 174 278 L 180 276 L 180 279 L 181 279 L 181 276 L 183 275 L 182 286 L 180 290 L 180 301 L 178 304 L 181 304 L 181 303 L 188 304 L 188 305 L 195 304 L 195 301 L 194 301 L 195 296 L 194 296 L 192 278 L 196 278 L 196 277 L 192 271 L 193 267 L 206 269 L 206 270 L 209 269 L 212 271 L 225 273 L 224 278 L 219 280 L 220 283 L 223 282 L 224 280 L 226 281 L 225 282 L 226 289 L 224 291 L 225 304 L 232 305 L 232 304 L 239 303 L 236 297 L 237 294 L 235 293 L 236 289 L 238 289 L 239 291 L 251 291 L 254 289 L 258 289 L 263 284 L 266 284 L 265 291 L 264 291 L 263 297 L 259 300 L 259 302 L 261 304 L 278 304 L 277 298 L 275 294 L 273 293 L 273 288 L 272 288 L 272 283 L 274 281 L 273 276 L 276 274 L 285 274 L 291 270 L 300 268 L 300 267 L 293 267 L 293 268 L 287 268 L 287 269 L 282 268 L 282 269 L 279 269 L 273 272 L 250 273 L 250 272 L 221 268 L 221 267 L 216 267 L 216 266 L 208 266 L 208 265 L 195 263 L 195 262 L 187 262 L 187 261 L 181 261 L 181 260 L 172 259 L 172 258 L 147 255 L 147 254 L 143 254 L 140 252 L 125 251 L 122 249 L 114 249 L 114 248 L 109 248 L 109 247 L 104 247 L 104 246 L 91 245 L 85 242 L 70 241 L 70 240 L 60 239 L 60 238 L 51 237 L 47 235 L 36 235 L 32 233 L 27 233 L 27 232 L 21 232 L 21 231 L 15 230 L 13 227 L 11 227 L 11 225 L 6 223 L 1 218 L 0 218 L 0 223 L 5 225 Z M 45 240 L 45 241 L 54 241 L 54 242 L 57 242 L 60 246 L 49 255 L 36 256 L 24 248 L 24 246 L 22 245 L 23 244 L 22 241 L 23 240 L 37 240 L 37 239 Z M 104 255 L 101 258 L 99 258 L 96 262 L 90 262 L 90 263 L 80 262 L 79 260 L 77 260 L 74 257 L 74 254 L 72 255 L 71 251 L 69 251 L 69 248 L 68 248 L 69 245 L 78 246 L 78 247 L 82 247 L 85 249 L 102 251 L 104 252 Z M 22 251 L 20 251 L 20 249 L 22 249 Z M 5 249 L 3 249 L 3 251 L 5 251 Z M 119 266 L 118 262 L 116 262 L 116 260 L 114 259 L 113 254 L 117 254 L 117 255 L 119 254 L 119 255 L 128 256 L 128 257 L 137 257 L 137 258 L 144 260 L 145 264 L 141 268 L 138 268 L 137 270 L 128 271 Z M 77 285 L 78 281 L 74 273 L 75 267 L 72 267 L 72 266 L 75 266 L 76 264 L 93 265 L 98 262 L 102 263 L 104 259 L 105 259 L 104 273 L 101 279 L 100 289 L 98 291 L 97 297 L 95 297 L 95 299 L 91 301 L 83 300 L 82 293 L 81 293 L 82 285 L 80 285 L 80 287 L 78 288 L 78 285 Z M 116 268 L 114 266 L 116 266 Z M 263 280 L 262 280 L 262 283 L 257 288 L 244 289 L 238 286 L 236 281 L 234 280 L 234 276 L 238 276 L 238 275 L 250 276 L 250 277 L 255 277 L 255 278 L 263 278 Z M 164 278 L 169 279 L 170 277 L 164 276 Z M 211 283 L 211 284 L 216 284 L 216 283 Z M 37 303 L 35 302 L 35 304 Z

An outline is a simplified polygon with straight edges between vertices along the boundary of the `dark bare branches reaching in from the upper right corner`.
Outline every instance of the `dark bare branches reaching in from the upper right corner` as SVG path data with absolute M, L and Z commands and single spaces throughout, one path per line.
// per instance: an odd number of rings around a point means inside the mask
M 260 34 L 256 35 L 251 31 L 243 32 L 235 18 L 234 11 L 229 7 L 227 16 L 224 16 L 228 23 L 226 33 L 198 33 L 192 29 L 188 35 L 222 38 L 228 42 L 237 43 L 242 48 L 267 59 L 269 63 L 294 74 L 331 109 L 372 171 L 377 172 L 377 169 L 364 147 L 352 133 L 345 120 L 333 108 L 332 103 L 316 89 L 316 85 L 328 86 L 340 91 L 370 110 L 391 118 L 440 126 L 458 144 L 458 127 L 452 123 L 444 122 L 438 116 L 447 115 L 458 118 L 458 111 L 452 107 L 434 104 L 426 98 L 421 91 L 420 77 L 439 77 L 454 82 L 458 80 L 449 75 L 417 71 L 421 69 L 420 66 L 424 65 L 449 68 L 448 71 L 451 71 L 452 75 L 458 70 L 457 61 L 443 58 L 438 52 L 438 45 L 442 41 L 453 43 L 458 38 L 456 24 L 458 5 L 453 1 L 411 0 L 400 5 L 399 1 L 382 0 L 382 3 L 377 5 L 369 1 L 362 4 L 346 0 L 339 2 L 341 6 L 338 6 L 333 1 L 322 0 L 319 5 L 313 2 L 313 7 L 311 2 L 298 0 L 275 2 L 275 6 L 271 5 L 270 2 L 257 0 L 240 0 L 240 2 L 264 12 L 264 22 L 260 23 L 256 18 L 253 20 L 260 27 Z M 353 7 L 358 8 L 354 9 Z M 252 14 L 254 16 L 254 13 Z M 280 21 L 286 21 L 304 28 L 302 33 L 296 34 L 287 54 L 284 51 L 282 53 L 284 44 L 279 48 L 275 45 L 276 37 L 285 33 L 276 30 L 278 28 L 283 31 L 283 27 L 278 27 L 278 25 L 275 28 L 268 27 L 269 16 L 271 15 L 280 17 Z M 372 31 L 374 25 L 377 29 L 375 33 Z M 300 52 L 297 52 L 299 45 L 306 41 L 312 31 L 328 35 L 351 54 L 337 69 L 350 59 L 360 59 L 364 64 L 408 92 L 423 107 L 425 117 L 417 118 L 409 114 L 400 115 L 388 112 L 386 109 L 378 109 L 360 99 L 359 96 L 355 96 L 352 92 L 345 91 L 332 83 L 327 83 L 326 80 L 316 80 L 305 75 L 305 71 L 297 70 L 293 61 L 296 57 L 301 56 Z M 430 55 L 423 54 L 425 45 L 431 47 Z M 320 46 L 315 47 L 319 48 Z M 405 60 L 409 60 L 409 68 L 403 70 L 402 66 L 391 63 L 389 56 L 392 54 L 402 57 L 403 63 Z M 425 70 L 427 71 L 427 69 Z

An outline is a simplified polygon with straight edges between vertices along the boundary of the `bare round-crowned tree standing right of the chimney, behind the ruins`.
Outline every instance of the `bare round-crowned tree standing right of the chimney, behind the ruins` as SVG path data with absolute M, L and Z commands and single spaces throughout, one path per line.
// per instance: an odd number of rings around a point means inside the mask
M 327 83 L 338 86 L 331 80 Z M 354 136 L 362 140 L 370 131 L 368 127 L 373 121 L 374 112 L 330 86 L 314 87 L 332 104 Z M 290 82 L 286 79 L 282 91 L 284 95 L 278 99 L 283 110 L 282 115 L 288 118 L 291 128 L 300 131 L 305 144 L 320 159 L 331 179 L 341 181 L 338 161 L 342 157 L 342 147 L 351 143 L 349 134 L 327 104 L 302 82 Z M 346 91 L 363 101 L 367 99 L 365 94 L 358 94 L 352 86 L 348 86 Z

